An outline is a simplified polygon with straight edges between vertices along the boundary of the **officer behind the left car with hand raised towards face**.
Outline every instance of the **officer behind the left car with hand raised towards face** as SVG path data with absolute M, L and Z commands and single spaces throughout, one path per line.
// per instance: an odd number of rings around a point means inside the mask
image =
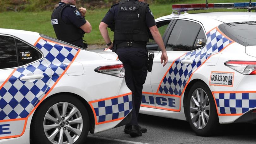
M 86 48 L 83 43 L 84 33 L 90 33 L 91 24 L 84 19 L 85 8 L 77 9 L 76 0 L 62 0 L 52 12 L 52 26 L 57 39 Z

